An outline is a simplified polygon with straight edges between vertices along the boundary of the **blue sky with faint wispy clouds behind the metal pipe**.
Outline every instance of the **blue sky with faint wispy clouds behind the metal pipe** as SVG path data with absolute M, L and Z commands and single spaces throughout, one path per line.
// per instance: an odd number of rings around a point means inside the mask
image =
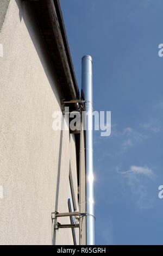
M 60 0 L 80 88 L 93 58 L 96 111 L 111 111 L 111 136 L 94 132 L 96 244 L 162 245 L 162 0 Z

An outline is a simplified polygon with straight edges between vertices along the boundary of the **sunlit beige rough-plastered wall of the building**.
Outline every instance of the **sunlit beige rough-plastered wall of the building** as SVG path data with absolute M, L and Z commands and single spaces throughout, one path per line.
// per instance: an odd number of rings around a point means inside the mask
M 52 129 L 60 86 L 28 1 L 10 1 L 0 44 L 0 244 L 73 244 L 51 213 L 68 211 L 70 165 L 78 205 L 74 136 Z

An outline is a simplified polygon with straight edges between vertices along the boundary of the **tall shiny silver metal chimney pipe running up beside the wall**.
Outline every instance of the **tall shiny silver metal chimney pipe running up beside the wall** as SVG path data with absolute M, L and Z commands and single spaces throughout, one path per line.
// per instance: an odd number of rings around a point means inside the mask
M 92 131 L 92 57 L 82 58 L 82 90 L 85 103 L 85 157 L 86 157 L 86 245 L 95 245 L 93 131 Z

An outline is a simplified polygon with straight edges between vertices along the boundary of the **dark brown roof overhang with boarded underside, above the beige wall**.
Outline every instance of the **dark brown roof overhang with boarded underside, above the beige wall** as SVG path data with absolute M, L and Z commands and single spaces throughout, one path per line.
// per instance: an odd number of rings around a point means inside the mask
M 58 0 L 30 0 L 66 100 L 80 99 Z M 74 105 L 73 108 L 78 108 Z

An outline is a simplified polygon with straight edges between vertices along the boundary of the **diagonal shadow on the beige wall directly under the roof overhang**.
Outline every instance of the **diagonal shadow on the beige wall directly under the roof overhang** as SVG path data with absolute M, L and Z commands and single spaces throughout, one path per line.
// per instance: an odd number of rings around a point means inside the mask
M 30 5 L 30 2 L 28 1 L 15 0 L 15 2 L 19 9 L 20 22 L 22 22 L 23 19 L 27 27 L 29 36 L 37 52 L 37 55 L 40 58 L 40 62 L 45 71 L 46 77 L 48 78 L 49 84 L 51 85 L 53 93 L 60 105 L 61 92 L 59 88 L 55 87 L 55 84 L 58 84 L 57 76 L 55 75 L 53 64 L 48 54 L 47 47 L 44 43 L 43 36 L 41 35 L 41 31 L 34 14 L 34 10 Z M 59 97 L 57 97 L 57 95 L 59 95 Z

